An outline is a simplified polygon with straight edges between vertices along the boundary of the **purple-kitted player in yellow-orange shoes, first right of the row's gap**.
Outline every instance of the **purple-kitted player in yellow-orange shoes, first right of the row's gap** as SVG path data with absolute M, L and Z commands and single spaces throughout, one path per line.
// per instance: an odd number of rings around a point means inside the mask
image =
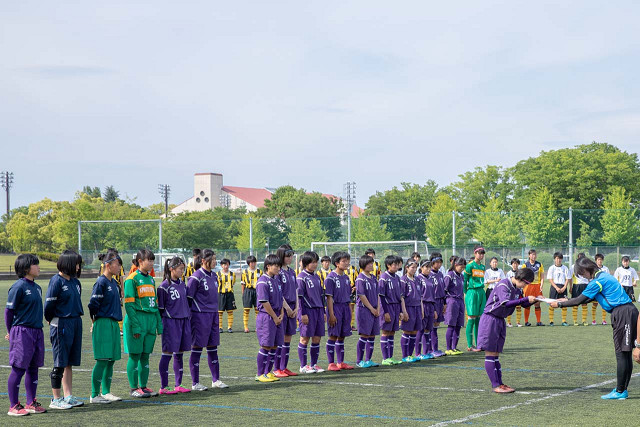
M 256 316 L 256 335 L 258 336 L 257 365 L 258 372 L 256 381 L 269 383 L 279 381 L 276 375 L 271 373 L 271 368 L 276 359 L 276 348 L 282 345 L 283 330 L 282 320 L 284 319 L 284 309 L 282 303 L 284 298 L 278 283 L 278 273 L 280 272 L 280 257 L 277 255 L 267 255 L 264 260 L 265 274 L 260 276 L 256 284 L 258 298 L 258 315 Z

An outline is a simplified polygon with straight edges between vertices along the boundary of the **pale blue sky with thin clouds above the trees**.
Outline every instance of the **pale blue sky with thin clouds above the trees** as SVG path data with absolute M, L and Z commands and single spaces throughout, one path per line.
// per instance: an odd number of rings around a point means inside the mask
M 113 185 L 357 203 L 591 141 L 640 151 L 633 1 L 0 2 L 12 207 Z M 4 205 L 4 196 L 0 196 Z

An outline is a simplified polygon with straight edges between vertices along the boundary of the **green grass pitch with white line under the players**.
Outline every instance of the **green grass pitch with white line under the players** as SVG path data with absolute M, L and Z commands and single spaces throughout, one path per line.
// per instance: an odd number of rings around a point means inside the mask
M 83 301 L 90 296 L 93 280 L 84 279 Z M 46 292 L 47 281 L 41 281 Z M 10 282 L 0 282 L 0 304 L 4 306 Z M 236 301 L 240 302 L 239 293 Z M 559 323 L 560 310 L 556 311 Z M 236 311 L 234 329 L 242 330 L 242 311 Z M 533 316 L 533 312 L 531 313 Z M 570 318 L 570 314 L 569 314 Z M 600 321 L 600 309 L 597 315 Z M 548 323 L 547 312 L 543 320 Z M 589 313 L 589 322 L 591 313 Z M 251 314 L 251 323 L 254 314 Z M 84 316 L 83 361 L 74 369 L 74 395 L 85 399 L 87 405 L 70 411 L 50 411 L 11 419 L 13 424 L 57 425 L 195 425 L 225 422 L 231 425 L 629 425 L 638 414 L 640 378 L 630 384 L 627 401 L 603 401 L 601 394 L 615 387 L 615 356 L 610 326 L 589 327 L 530 327 L 508 330 L 505 353 L 500 360 L 504 381 L 517 389 L 510 395 L 491 392 L 484 371 L 482 353 L 465 353 L 436 360 L 396 367 L 381 367 L 350 372 L 322 373 L 272 384 L 254 381 L 256 352 L 255 333 L 222 334 L 219 350 L 222 380 L 229 389 L 191 392 L 179 396 L 161 396 L 132 401 L 128 397 L 125 364 L 127 356 L 116 362 L 112 392 L 125 398 L 110 405 L 90 405 L 90 371 L 93 367 L 90 320 Z M 226 316 L 225 316 L 226 325 Z M 4 325 L 3 325 L 4 328 Z M 226 329 L 226 328 L 225 328 Z M 45 342 L 49 351 L 45 368 L 40 371 L 39 396 L 48 406 L 51 389 L 49 371 L 51 352 L 45 326 Z M 253 327 L 252 327 L 253 330 Z M 464 330 L 459 348 L 466 347 Z M 326 367 L 322 341 L 320 364 Z M 396 338 L 396 355 L 400 352 Z M 440 331 L 440 343 L 444 330 Z M 355 358 L 356 338 L 347 339 L 347 362 Z M 0 344 L 0 402 L 9 407 L 4 388 L 9 374 L 9 344 Z M 290 368 L 297 366 L 295 344 L 292 345 Z M 160 338 L 156 351 L 160 349 Z M 377 345 L 374 360 L 380 361 Z M 185 362 L 188 356 L 185 357 Z M 151 357 L 149 386 L 159 388 L 159 355 Z M 170 371 L 172 369 L 170 368 Z M 190 385 L 188 364 L 185 363 L 185 383 Z M 208 370 L 203 364 L 202 383 L 207 382 Z M 169 378 L 172 386 L 172 375 Z M 24 393 L 24 387 L 20 388 Z M 24 401 L 24 397 L 22 397 Z M 24 402 L 23 402 L 24 403 Z M 2 417 L 3 415 L 0 415 Z M 5 422 L 9 419 L 5 418 Z

